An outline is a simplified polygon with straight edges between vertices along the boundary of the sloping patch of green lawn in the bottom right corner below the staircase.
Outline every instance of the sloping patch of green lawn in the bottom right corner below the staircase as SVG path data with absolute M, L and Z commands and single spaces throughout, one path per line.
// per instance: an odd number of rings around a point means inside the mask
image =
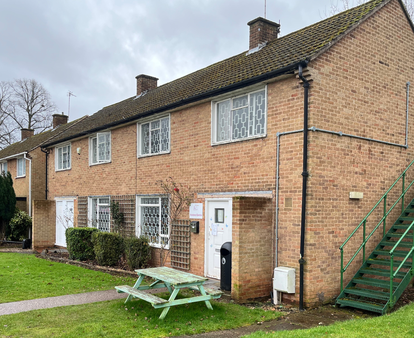
M 267 331 L 268 332 L 268 331 Z M 414 304 L 409 304 L 390 315 L 370 319 L 354 319 L 338 322 L 330 326 L 320 326 L 308 330 L 258 331 L 244 338 L 412 338 L 414 337 Z

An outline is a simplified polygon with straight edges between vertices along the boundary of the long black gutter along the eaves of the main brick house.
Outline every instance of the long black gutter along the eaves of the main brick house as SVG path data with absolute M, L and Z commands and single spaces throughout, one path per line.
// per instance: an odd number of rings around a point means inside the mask
M 250 79 L 247 79 L 247 80 L 241 80 L 239 82 L 232 83 L 231 85 L 227 85 L 227 86 L 224 86 L 224 87 L 212 89 L 212 90 L 209 90 L 208 92 L 205 92 L 205 93 L 202 93 L 202 94 L 193 95 L 193 96 L 187 97 L 186 99 L 182 99 L 182 100 L 170 103 L 170 104 L 166 104 L 165 106 L 161 106 L 161 107 L 158 107 L 158 108 L 155 108 L 155 109 L 151 109 L 151 110 L 144 111 L 142 113 L 130 116 L 129 118 L 122 118 L 121 120 L 114 121 L 114 122 L 111 122 L 111 123 L 107 123 L 106 125 L 103 125 L 103 126 L 100 126 L 100 127 L 97 127 L 97 128 L 93 128 L 93 129 L 89 129 L 89 130 L 86 130 L 82 133 L 78 133 L 76 135 L 73 135 L 73 136 L 70 136 L 70 137 L 67 137 L 67 138 L 59 139 L 59 143 L 60 142 L 65 142 L 65 141 L 68 141 L 68 140 L 72 140 L 74 138 L 78 138 L 79 136 L 84 136 L 84 135 L 89 135 L 91 133 L 96 133 L 98 131 L 108 129 L 108 128 L 111 128 L 111 127 L 116 127 L 116 126 L 119 126 L 121 124 L 124 124 L 125 122 L 131 122 L 131 121 L 135 121 L 139 118 L 154 115 L 156 113 L 162 113 L 164 111 L 175 109 L 175 108 L 184 106 L 186 104 L 191 104 L 191 103 L 200 101 L 202 99 L 208 99 L 210 97 L 214 97 L 214 96 L 217 96 L 217 95 L 220 95 L 220 94 L 225 94 L 225 93 L 228 93 L 228 92 L 232 92 L 233 90 L 237 90 L 237 89 L 240 89 L 240 88 L 243 88 L 243 87 L 255 85 L 256 83 L 259 83 L 259 82 L 262 82 L 262 81 L 265 81 L 265 80 L 269 80 L 269 79 L 272 79 L 273 77 L 277 77 L 279 75 L 283 75 L 283 74 L 286 74 L 290 71 L 296 70 L 299 67 L 299 65 L 303 65 L 303 66 L 306 67 L 306 62 L 304 60 L 298 61 L 298 62 L 292 63 L 290 65 L 284 66 L 282 68 L 278 68 L 276 70 L 272 70 L 272 71 L 264 73 L 264 74 L 256 75 L 256 76 L 251 77 Z M 50 147 L 50 146 L 52 146 L 56 143 L 58 143 L 58 142 L 47 143 L 47 144 L 43 145 L 43 147 Z

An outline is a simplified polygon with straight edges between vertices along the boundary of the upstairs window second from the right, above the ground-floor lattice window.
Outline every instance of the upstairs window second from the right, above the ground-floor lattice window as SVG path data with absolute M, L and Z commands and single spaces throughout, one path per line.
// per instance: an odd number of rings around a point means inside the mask
M 138 157 L 170 152 L 170 116 L 138 123 L 137 130 Z

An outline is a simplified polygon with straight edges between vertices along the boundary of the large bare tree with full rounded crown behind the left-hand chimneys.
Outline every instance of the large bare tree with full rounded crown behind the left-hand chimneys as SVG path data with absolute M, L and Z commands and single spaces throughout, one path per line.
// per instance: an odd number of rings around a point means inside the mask
M 19 128 L 34 129 L 38 133 L 51 128 L 55 103 L 43 85 L 34 79 L 17 79 L 9 83 L 13 109 L 7 115 Z

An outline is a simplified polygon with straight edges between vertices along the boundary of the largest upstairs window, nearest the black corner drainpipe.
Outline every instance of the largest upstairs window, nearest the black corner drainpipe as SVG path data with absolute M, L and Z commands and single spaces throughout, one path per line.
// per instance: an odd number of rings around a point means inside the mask
M 212 145 L 266 136 L 266 89 L 212 104 Z

